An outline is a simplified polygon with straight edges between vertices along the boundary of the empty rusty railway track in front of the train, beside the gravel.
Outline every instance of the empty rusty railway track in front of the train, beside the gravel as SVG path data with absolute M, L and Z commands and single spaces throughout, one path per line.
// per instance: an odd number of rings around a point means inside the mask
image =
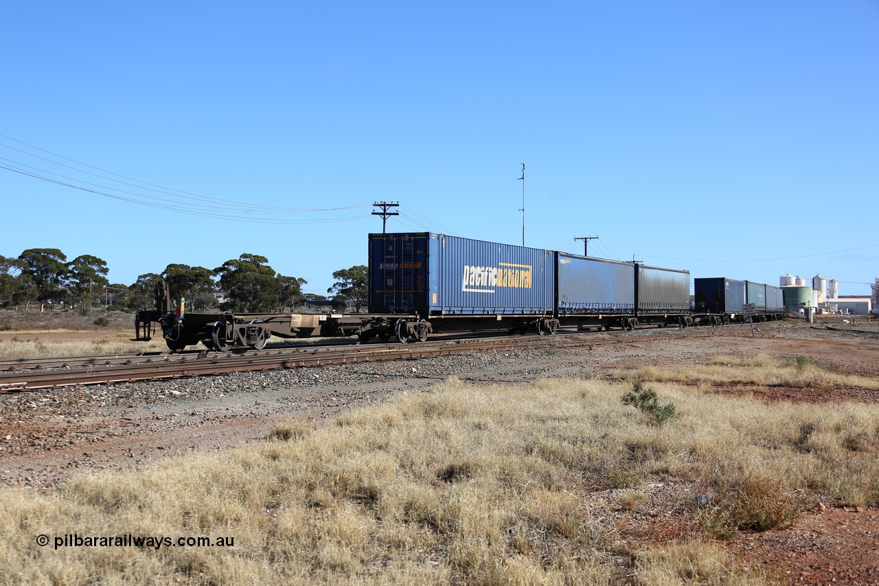
M 730 326 L 726 326 L 730 327 Z M 735 326 L 732 326 L 735 327 Z M 504 336 L 427 341 L 418 344 L 367 344 L 316 346 L 310 348 L 282 348 L 244 353 L 195 351 L 180 354 L 150 353 L 147 355 L 79 356 L 51 359 L 59 364 L 50 370 L 27 370 L 0 373 L 0 393 L 21 392 L 72 385 L 99 385 L 109 383 L 155 380 L 162 378 L 201 377 L 229 372 L 275 370 L 321 366 L 340 363 L 368 363 L 375 361 L 425 358 L 460 352 L 536 349 L 589 344 L 618 343 L 642 337 L 651 340 L 680 335 L 708 337 L 711 328 L 665 330 L 650 328 L 622 333 L 614 338 L 596 339 L 589 333 L 567 333 L 555 336 Z M 707 331 L 706 331 L 707 330 Z M 639 335 L 640 334 L 640 335 Z M 39 362 L 39 360 L 34 363 Z M 0 369 L 8 367 L 6 361 Z M 41 364 L 47 364 L 43 360 Z M 71 366 L 71 364 L 78 366 Z M 18 363 L 20 364 L 20 363 Z M 40 368 L 47 368 L 42 366 Z

